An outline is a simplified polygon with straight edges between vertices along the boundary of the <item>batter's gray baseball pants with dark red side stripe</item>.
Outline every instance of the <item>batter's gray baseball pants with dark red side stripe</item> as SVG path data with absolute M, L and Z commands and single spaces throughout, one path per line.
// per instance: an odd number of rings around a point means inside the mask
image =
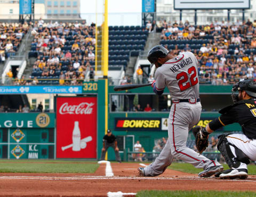
M 161 175 L 171 165 L 173 158 L 191 163 L 196 168 L 220 165 L 186 146 L 188 131 L 199 121 L 201 110 L 200 102 L 172 105 L 168 119 L 168 140 L 155 161 L 144 168 L 145 176 Z

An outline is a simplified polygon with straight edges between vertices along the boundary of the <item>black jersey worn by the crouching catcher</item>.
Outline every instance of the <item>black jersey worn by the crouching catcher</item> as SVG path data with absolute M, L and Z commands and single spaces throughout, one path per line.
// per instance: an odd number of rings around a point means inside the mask
M 238 101 L 219 112 L 219 121 L 223 126 L 238 122 L 246 137 L 256 139 L 256 100 Z

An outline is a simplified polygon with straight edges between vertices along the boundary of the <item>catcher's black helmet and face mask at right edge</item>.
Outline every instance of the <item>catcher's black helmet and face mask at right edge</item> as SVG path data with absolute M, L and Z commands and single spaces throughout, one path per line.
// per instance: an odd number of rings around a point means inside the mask
M 256 97 L 256 82 L 252 79 L 245 78 L 242 81 L 236 83 L 232 88 L 232 100 L 234 103 L 239 101 L 238 92 L 236 91 L 245 91 L 249 96 Z

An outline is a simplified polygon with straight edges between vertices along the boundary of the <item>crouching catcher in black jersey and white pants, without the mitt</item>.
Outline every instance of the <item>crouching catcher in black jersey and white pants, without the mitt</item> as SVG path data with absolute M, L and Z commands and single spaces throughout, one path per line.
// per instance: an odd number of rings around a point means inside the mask
M 238 94 L 236 93 L 238 91 Z M 240 178 L 248 176 L 247 165 L 256 161 L 256 83 L 246 78 L 235 84 L 231 95 L 234 104 L 221 109 L 221 116 L 212 120 L 200 130 L 201 139 L 222 126 L 238 122 L 243 134 L 220 135 L 218 150 L 230 169 L 215 175 L 220 178 Z

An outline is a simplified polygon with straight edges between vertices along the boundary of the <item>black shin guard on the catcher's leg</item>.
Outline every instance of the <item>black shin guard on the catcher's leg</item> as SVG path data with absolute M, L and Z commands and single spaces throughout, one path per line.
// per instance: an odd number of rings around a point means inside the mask
M 218 150 L 220 151 L 223 158 L 227 162 L 227 165 L 229 166 L 229 168 L 232 168 L 232 167 L 238 168 L 241 165 L 240 161 L 242 161 L 245 164 L 250 163 L 249 159 L 243 153 L 243 151 L 241 151 L 235 145 L 230 144 L 228 142 L 227 135 L 223 134 L 223 135 L 218 136 L 218 138 L 219 138 L 219 142 L 217 145 Z M 233 154 L 233 152 L 231 151 L 230 146 L 233 146 L 235 148 L 236 157 Z

